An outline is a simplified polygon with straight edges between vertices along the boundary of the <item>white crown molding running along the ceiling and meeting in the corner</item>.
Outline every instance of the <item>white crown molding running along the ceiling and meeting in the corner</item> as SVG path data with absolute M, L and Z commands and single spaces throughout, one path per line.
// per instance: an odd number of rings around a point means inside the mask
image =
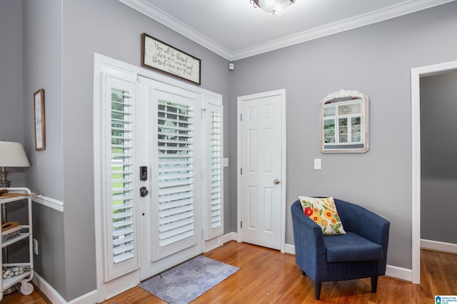
M 345 19 L 343 21 L 338 21 L 335 23 L 329 23 L 325 26 L 320 26 L 317 28 L 312 28 L 308 31 L 303 31 L 301 33 L 296 33 L 291 36 L 277 39 L 275 41 L 270 41 L 268 43 L 263 43 L 258 46 L 253 46 L 251 48 L 245 48 L 241 51 L 230 52 L 226 48 L 222 47 L 219 43 L 216 43 L 204 36 L 203 34 L 195 31 L 193 28 L 187 26 L 181 21 L 175 19 L 174 17 L 166 14 L 164 11 L 157 9 L 156 6 L 153 6 L 148 1 L 145 0 L 119 0 L 122 3 L 130 6 L 132 9 L 149 16 L 151 19 L 158 21 L 159 23 L 164 24 L 174 31 L 181 33 L 187 38 L 199 43 L 201 46 L 208 48 L 210 51 L 226 58 L 229 61 L 236 61 L 238 59 L 247 58 L 250 56 L 255 56 L 261 53 L 266 53 L 269 51 L 277 50 L 278 48 L 284 48 L 286 46 L 293 46 L 298 43 L 311 41 L 313 39 L 321 38 L 324 36 L 329 36 L 334 33 L 341 33 L 343 31 L 348 31 L 353 28 L 358 28 L 361 26 L 367 26 L 369 24 L 385 21 L 388 19 L 393 19 L 399 16 L 407 15 L 414 13 L 416 11 L 421 11 L 423 9 L 429 9 L 433 6 L 438 6 L 441 4 L 446 4 L 455 0 L 408 0 L 395 4 L 393 6 L 388 6 L 383 9 L 378 9 L 377 11 L 371 11 L 367 14 L 362 14 L 352 18 Z M 246 0 L 247 1 L 247 0 Z

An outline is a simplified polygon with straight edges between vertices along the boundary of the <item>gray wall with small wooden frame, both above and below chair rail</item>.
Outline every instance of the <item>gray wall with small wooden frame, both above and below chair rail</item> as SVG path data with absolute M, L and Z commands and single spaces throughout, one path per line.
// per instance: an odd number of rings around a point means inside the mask
M 19 4 L 21 1 L 16 1 Z M 26 187 L 32 192 L 64 201 L 62 167 L 62 19 L 61 1 L 22 1 L 24 85 L 24 146 L 31 162 Z M 34 103 L 36 90 L 44 89 L 46 150 L 35 151 Z M 65 214 L 33 204 L 34 255 L 36 273 L 60 295 L 66 297 Z M 71 275 L 71 273 L 70 273 Z

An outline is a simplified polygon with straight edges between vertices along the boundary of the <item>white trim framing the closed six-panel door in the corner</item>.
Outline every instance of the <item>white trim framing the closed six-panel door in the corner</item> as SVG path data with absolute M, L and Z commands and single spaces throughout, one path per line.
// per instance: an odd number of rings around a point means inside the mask
M 237 116 L 236 116 L 236 228 L 237 241 L 243 241 L 241 234 L 241 103 L 243 100 L 254 98 L 265 98 L 271 95 L 281 95 L 281 252 L 286 250 L 286 90 L 272 90 L 263 93 L 239 96 L 237 98 Z

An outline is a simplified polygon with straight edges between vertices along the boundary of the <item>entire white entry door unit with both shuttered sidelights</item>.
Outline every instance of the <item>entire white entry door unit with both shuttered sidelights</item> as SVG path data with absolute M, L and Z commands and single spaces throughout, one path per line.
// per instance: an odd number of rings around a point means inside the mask
M 94 303 L 221 245 L 222 113 L 219 94 L 94 55 Z

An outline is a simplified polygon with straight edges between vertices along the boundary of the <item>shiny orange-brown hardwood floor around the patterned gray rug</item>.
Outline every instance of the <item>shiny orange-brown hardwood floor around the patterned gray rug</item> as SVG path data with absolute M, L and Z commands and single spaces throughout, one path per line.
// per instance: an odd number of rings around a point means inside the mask
M 326 282 L 321 300 L 314 300 L 313 281 L 302 276 L 295 256 L 231 241 L 204 256 L 237 266 L 240 270 L 192 304 L 198 303 L 434 303 L 434 295 L 457 295 L 457 255 L 421 250 L 421 284 L 383 276 L 378 292 L 371 293 L 370 279 Z M 34 291 L 35 293 L 35 291 Z M 34 294 L 32 294 L 34 295 Z M 38 295 L 38 294 L 37 294 Z M 14 293 L 1 303 L 46 303 L 43 298 Z M 103 304 L 162 304 L 139 287 L 131 288 Z

